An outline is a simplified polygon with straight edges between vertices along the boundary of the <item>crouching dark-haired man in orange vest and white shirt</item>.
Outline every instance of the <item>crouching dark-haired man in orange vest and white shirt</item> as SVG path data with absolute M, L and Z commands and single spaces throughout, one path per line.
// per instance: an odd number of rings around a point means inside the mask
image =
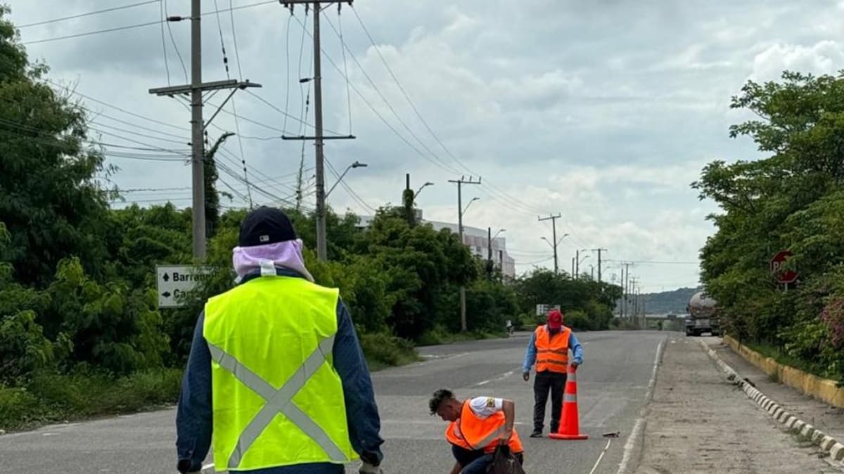
M 477 396 L 458 401 L 452 391 L 440 389 L 428 402 L 431 415 L 449 422 L 446 441 L 456 460 L 451 474 L 482 474 L 493 461 L 495 450 L 506 446 L 519 464 L 524 463 L 522 439 L 516 428 L 516 405 L 503 398 Z

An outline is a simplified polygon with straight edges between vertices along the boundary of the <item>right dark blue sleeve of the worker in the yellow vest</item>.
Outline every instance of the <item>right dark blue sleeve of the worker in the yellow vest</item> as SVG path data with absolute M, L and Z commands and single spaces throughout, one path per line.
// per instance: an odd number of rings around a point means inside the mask
M 372 379 L 366 367 L 352 317 L 343 301 L 337 304 L 337 337 L 334 339 L 334 368 L 343 381 L 346 419 L 352 448 L 363 461 L 381 463 L 381 417 L 375 401 Z

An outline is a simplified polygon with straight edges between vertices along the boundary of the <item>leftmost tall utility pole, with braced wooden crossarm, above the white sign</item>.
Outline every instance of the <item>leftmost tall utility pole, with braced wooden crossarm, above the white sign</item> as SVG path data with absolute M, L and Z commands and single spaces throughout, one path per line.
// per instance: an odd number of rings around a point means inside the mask
M 203 41 L 202 41 L 202 4 L 201 0 L 191 0 L 191 16 L 170 16 L 167 21 L 191 20 L 191 83 L 149 89 L 149 94 L 173 97 L 175 95 L 190 95 L 191 98 L 191 176 L 192 176 L 192 220 L 193 220 L 193 256 L 197 259 L 205 258 L 206 224 L 205 224 L 205 143 L 203 132 L 208 124 L 214 120 L 219 110 L 231 99 L 238 89 L 261 87 L 261 84 L 235 79 L 203 83 Z M 208 90 L 231 89 L 228 97 L 219 105 L 214 115 L 203 121 L 203 92 Z

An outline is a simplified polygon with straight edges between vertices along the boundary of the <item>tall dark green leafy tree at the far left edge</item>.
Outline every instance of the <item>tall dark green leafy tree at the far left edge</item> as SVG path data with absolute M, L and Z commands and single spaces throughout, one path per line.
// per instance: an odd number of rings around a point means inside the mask
M 46 67 L 30 65 L 7 14 L 0 7 L 0 219 L 15 276 L 44 287 L 70 255 L 101 276 L 109 255 L 100 238 L 108 192 L 95 180 L 102 154 L 90 146 L 84 110 L 41 82 Z

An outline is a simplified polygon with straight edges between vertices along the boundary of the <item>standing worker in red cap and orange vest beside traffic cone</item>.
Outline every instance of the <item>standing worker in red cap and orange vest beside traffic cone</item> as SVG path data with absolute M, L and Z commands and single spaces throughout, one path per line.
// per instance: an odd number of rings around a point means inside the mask
M 560 412 L 563 409 L 563 388 L 569 364 L 569 349 L 574 353 L 571 366 L 576 369 L 583 364 L 583 347 L 571 328 L 563 326 L 560 310 L 550 310 L 548 323 L 538 326 L 527 342 L 525 360 L 522 364 L 522 378 L 530 380 L 530 368 L 536 363 L 536 378 L 533 380 L 533 433 L 531 438 L 542 438 L 545 404 L 551 391 L 551 433 L 560 427 Z

